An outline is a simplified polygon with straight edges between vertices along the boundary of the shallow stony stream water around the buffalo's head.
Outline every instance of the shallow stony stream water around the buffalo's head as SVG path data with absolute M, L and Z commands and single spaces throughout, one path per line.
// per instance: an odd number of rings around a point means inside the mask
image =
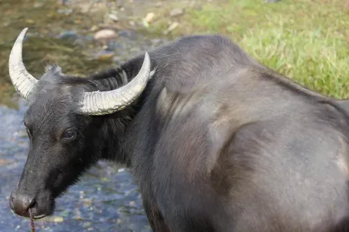
M 96 41 L 106 29 L 106 6 L 75 9 L 72 1 L 1 1 L 0 27 L 0 231 L 30 231 L 30 221 L 9 208 L 11 191 L 17 185 L 28 153 L 23 114 L 28 107 L 10 84 L 8 55 L 17 35 L 28 27 L 23 45 L 27 69 L 40 77 L 48 63 L 59 64 L 68 74 L 88 75 L 168 41 L 114 25 L 117 37 Z M 92 2 L 92 1 L 85 1 Z M 97 2 L 97 1 L 96 1 Z M 70 3 L 70 4 L 69 4 Z M 102 4 L 102 3 L 98 3 Z M 98 8 L 99 7 L 99 8 Z M 88 11 L 90 10 L 90 11 Z M 124 9 L 123 12 L 128 12 Z M 103 27 L 99 25 L 103 24 Z M 117 28 L 117 29 L 116 29 Z M 54 215 L 35 221 L 37 231 L 151 231 L 130 171 L 118 164 L 99 162 L 83 179 L 57 200 Z

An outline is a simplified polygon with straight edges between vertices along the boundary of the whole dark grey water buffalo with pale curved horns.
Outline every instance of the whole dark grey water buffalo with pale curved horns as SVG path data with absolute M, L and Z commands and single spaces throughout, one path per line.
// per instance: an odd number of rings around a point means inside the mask
M 349 103 L 266 68 L 219 35 L 181 37 L 88 77 L 22 61 L 30 148 L 10 196 L 43 218 L 98 160 L 133 168 L 154 231 L 346 231 Z

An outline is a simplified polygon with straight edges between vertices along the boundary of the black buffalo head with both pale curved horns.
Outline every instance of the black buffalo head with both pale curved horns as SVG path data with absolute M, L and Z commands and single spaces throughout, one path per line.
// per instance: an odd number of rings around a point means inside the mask
M 54 199 L 103 156 L 106 137 L 117 137 L 108 134 L 103 122 L 141 95 L 150 77 L 150 57 L 146 52 L 138 74 L 112 90 L 101 90 L 88 78 L 64 75 L 59 66 L 48 66 L 38 80 L 22 61 L 27 29 L 15 41 L 9 59 L 12 84 L 29 102 L 24 124 L 30 139 L 21 179 L 10 196 L 10 209 L 23 217 L 28 217 L 31 209 L 34 218 L 43 218 L 54 211 Z

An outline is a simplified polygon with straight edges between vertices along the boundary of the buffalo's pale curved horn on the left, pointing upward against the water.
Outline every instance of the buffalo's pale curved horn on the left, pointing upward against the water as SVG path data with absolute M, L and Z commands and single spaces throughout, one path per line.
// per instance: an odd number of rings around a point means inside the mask
M 17 37 L 8 60 L 8 72 L 10 73 L 12 84 L 17 93 L 24 99 L 28 99 L 30 92 L 37 84 L 37 79 L 26 70 L 22 60 L 22 43 L 27 30 L 28 28 L 24 28 Z

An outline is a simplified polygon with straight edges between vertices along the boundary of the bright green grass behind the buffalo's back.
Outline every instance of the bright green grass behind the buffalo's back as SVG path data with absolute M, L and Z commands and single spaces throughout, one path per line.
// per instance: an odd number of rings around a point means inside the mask
M 219 33 L 262 64 L 335 98 L 349 97 L 349 11 L 346 0 L 201 1 L 176 19 L 174 35 Z M 199 6 L 199 7 L 198 7 Z M 163 12 L 168 14 L 168 6 Z M 159 17 L 152 30 L 163 30 Z

